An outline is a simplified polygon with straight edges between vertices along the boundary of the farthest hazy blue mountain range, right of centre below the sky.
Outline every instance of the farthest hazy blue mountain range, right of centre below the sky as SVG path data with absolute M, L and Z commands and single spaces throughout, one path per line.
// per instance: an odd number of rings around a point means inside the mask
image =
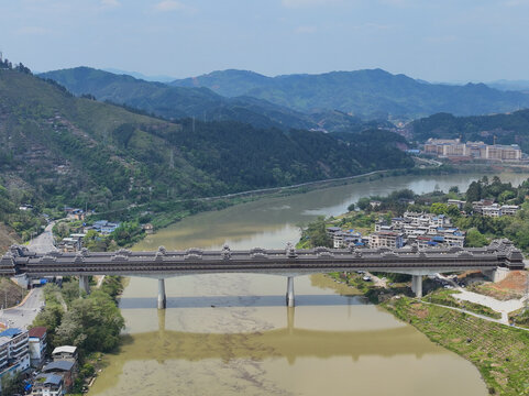
M 206 87 L 227 96 L 251 96 L 301 112 L 339 110 L 363 119 L 415 119 L 437 112 L 456 116 L 507 112 L 529 107 L 529 95 L 484 84 L 425 84 L 382 69 L 265 77 L 245 70 L 213 72 L 170 82 Z

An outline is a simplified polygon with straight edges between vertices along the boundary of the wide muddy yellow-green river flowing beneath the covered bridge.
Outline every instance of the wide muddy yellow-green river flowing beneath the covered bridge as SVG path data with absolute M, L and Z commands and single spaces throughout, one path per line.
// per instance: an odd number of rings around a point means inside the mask
M 465 190 L 477 177 L 405 176 L 263 198 L 186 218 L 134 249 L 282 248 L 298 241 L 299 224 L 361 197 Z M 519 184 L 527 175 L 500 177 Z M 184 276 L 167 279 L 166 292 L 158 311 L 156 279 L 131 278 L 120 302 L 125 342 L 90 396 L 487 394 L 470 362 L 323 275 L 295 278 L 291 309 L 280 276 Z

